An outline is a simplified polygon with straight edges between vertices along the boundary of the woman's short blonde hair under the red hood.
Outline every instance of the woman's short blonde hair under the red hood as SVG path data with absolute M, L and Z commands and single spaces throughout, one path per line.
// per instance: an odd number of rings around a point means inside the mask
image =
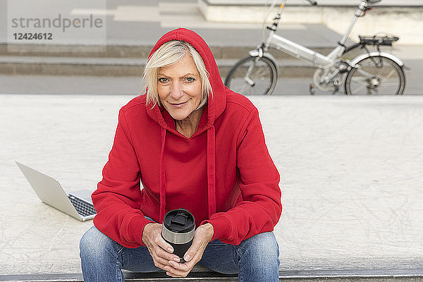
M 161 105 L 159 93 L 157 92 L 159 68 L 176 63 L 182 59 L 185 54 L 190 54 L 200 74 L 202 98 L 197 109 L 207 104 L 209 97 L 212 97 L 212 85 L 209 81 L 209 73 L 197 50 L 188 42 L 181 40 L 171 40 L 164 43 L 147 61 L 143 78 L 143 80 L 145 80 L 145 86 L 147 87 L 147 104 L 152 104 L 152 107 L 156 104 Z

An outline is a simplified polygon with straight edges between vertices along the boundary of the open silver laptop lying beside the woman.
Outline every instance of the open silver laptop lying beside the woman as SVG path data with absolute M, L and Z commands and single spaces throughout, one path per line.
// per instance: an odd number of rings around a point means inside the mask
M 81 190 L 73 195 L 67 194 L 58 180 L 20 164 L 18 161 L 15 162 L 42 202 L 80 221 L 94 218 L 96 212 L 90 199 L 91 192 L 89 190 Z M 79 196 L 84 194 L 85 197 Z

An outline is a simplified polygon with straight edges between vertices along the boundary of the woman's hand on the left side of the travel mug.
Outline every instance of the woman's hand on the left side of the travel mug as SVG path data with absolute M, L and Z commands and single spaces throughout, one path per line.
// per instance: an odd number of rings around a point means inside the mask
M 142 243 L 144 243 L 153 258 L 154 265 L 166 271 L 170 266 L 169 261 L 179 262 L 179 257 L 173 253 L 173 247 L 161 238 L 161 224 L 148 223 L 142 231 Z

